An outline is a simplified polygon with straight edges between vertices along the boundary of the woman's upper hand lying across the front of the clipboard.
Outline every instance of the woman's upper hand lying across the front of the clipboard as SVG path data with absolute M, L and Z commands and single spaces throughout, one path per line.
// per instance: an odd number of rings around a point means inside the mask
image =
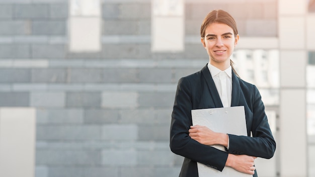
M 204 145 L 220 144 L 227 147 L 228 135 L 217 133 L 205 126 L 194 125 L 188 130 L 189 136 Z

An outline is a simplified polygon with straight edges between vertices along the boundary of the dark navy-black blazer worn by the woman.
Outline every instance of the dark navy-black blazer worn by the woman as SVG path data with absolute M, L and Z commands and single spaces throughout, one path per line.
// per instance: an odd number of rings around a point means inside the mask
M 172 152 L 185 157 L 179 176 L 198 176 L 197 161 L 222 171 L 228 153 L 262 158 L 273 156 L 276 142 L 268 124 L 260 93 L 255 85 L 240 79 L 232 71 L 231 107 L 233 106 L 245 107 L 248 136 L 229 134 L 227 152 L 200 144 L 188 135 L 192 125 L 191 110 L 223 106 L 207 65 L 201 71 L 179 80 L 170 131 Z M 251 132 L 253 137 L 250 137 Z M 257 176 L 256 171 L 254 176 Z

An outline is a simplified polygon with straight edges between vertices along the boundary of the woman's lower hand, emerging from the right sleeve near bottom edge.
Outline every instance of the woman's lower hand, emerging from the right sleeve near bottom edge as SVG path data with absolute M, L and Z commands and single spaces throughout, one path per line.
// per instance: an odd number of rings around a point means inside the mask
M 256 169 L 254 160 L 256 158 L 257 157 L 248 155 L 228 154 L 225 166 L 229 166 L 243 173 L 254 174 Z

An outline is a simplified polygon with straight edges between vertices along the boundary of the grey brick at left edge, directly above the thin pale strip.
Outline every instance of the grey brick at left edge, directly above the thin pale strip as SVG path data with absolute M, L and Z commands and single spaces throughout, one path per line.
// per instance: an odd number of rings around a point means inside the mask
M 25 44 L 0 44 L 0 58 L 29 58 L 29 45 Z

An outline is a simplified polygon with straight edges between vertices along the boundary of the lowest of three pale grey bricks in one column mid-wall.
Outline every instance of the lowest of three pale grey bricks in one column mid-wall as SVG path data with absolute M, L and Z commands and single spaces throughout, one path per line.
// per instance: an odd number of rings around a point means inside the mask
M 102 164 L 104 165 L 136 165 L 137 152 L 132 149 L 130 150 L 103 150 L 102 151 Z

